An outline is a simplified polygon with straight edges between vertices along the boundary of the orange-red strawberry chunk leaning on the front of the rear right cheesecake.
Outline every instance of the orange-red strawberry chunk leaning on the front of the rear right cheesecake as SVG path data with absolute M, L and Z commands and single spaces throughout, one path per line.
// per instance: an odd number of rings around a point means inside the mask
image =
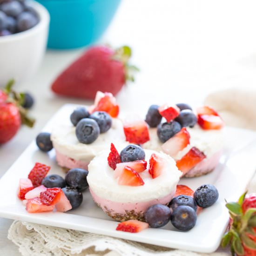
M 183 175 L 185 175 L 205 157 L 206 156 L 198 148 L 193 147 L 182 157 L 181 160 L 176 161 L 176 166 L 180 171 L 182 171 Z

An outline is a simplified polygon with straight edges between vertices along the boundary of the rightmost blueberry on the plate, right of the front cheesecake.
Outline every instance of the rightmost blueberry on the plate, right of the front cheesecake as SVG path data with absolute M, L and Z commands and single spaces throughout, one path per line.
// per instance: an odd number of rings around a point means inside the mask
M 213 205 L 218 200 L 218 197 L 218 190 L 211 184 L 200 186 L 194 193 L 195 202 L 202 208 Z

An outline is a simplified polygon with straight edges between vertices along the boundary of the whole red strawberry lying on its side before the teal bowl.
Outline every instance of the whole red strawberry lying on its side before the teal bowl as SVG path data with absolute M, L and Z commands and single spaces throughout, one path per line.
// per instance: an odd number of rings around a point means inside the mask
M 117 94 L 126 81 L 134 81 L 128 64 L 131 49 L 128 46 L 116 51 L 110 47 L 89 48 L 79 59 L 64 70 L 52 84 L 56 94 L 94 99 L 97 91 Z

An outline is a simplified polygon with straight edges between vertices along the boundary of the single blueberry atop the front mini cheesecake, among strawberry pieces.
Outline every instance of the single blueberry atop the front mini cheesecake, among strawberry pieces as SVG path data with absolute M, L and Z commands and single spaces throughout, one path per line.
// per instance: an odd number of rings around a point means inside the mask
M 143 148 L 141 148 L 140 146 L 130 144 L 121 151 L 120 157 L 121 162 L 133 162 L 137 160 L 144 160 L 145 152 Z

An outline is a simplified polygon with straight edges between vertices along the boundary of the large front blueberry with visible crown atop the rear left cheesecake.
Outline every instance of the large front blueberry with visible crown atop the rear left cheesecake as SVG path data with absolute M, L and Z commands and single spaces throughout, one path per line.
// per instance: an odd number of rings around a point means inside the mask
M 91 144 L 100 135 L 100 128 L 95 120 L 83 118 L 76 125 L 75 134 L 81 143 Z

